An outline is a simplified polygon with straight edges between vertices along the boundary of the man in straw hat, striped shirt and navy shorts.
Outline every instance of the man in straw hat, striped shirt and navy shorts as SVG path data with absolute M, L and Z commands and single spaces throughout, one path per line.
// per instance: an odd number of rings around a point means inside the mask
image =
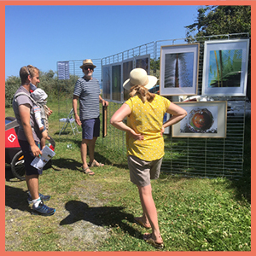
M 73 92 L 73 111 L 75 120 L 78 125 L 82 125 L 82 143 L 81 143 L 81 158 L 83 162 L 82 172 L 88 175 L 95 173 L 90 170 L 90 167 L 104 166 L 102 163 L 94 159 L 95 144 L 97 137 L 100 136 L 100 107 L 99 102 L 103 106 L 108 107 L 108 102 L 100 96 L 101 90 L 99 81 L 92 77 L 96 66 L 90 59 L 84 60 L 82 68 L 84 77 L 78 79 Z M 79 100 L 79 114 L 78 114 Z M 89 148 L 90 161 L 87 163 L 87 146 Z

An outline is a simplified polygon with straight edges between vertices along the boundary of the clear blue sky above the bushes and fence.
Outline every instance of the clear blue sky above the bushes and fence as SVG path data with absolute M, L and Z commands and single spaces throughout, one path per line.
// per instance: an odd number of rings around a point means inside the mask
M 5 79 L 33 65 L 101 59 L 150 42 L 185 38 L 196 5 L 6 6 Z

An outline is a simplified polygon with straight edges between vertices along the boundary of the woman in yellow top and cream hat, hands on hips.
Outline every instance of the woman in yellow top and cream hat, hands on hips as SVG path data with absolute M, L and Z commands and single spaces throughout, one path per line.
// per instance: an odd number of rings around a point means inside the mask
M 164 152 L 162 134 L 166 127 L 183 119 L 187 112 L 165 97 L 150 93 L 157 78 L 149 76 L 142 68 L 135 68 L 130 79 L 123 84 L 130 90 L 131 98 L 112 116 L 110 123 L 121 131 L 126 131 L 126 147 L 131 182 L 137 185 L 143 207 L 143 216 L 134 218 L 145 228 L 152 228 L 152 234 L 144 234 L 143 239 L 154 247 L 164 247 L 160 236 L 157 212 L 151 192 L 150 179 L 158 178 Z M 163 124 L 164 114 L 172 117 Z M 125 117 L 127 125 L 123 122 Z

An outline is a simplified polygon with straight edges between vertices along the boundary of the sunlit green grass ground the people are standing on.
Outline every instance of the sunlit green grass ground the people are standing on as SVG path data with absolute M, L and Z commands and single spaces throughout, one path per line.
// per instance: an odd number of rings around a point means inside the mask
M 49 107 L 54 111 L 49 133 L 55 138 L 56 154 L 39 181 L 40 192 L 51 195 L 49 207 L 56 212 L 49 218 L 31 215 L 26 183 L 6 180 L 6 251 L 155 251 L 142 239 L 148 230 L 133 223 L 142 209 L 124 154 L 106 148 L 105 138 L 98 139 L 96 159 L 106 166 L 94 168 L 94 177 L 84 176 L 79 172 L 81 135 L 59 137 L 58 102 L 49 102 Z M 11 108 L 5 112 L 13 116 Z M 67 148 L 70 143 L 72 148 Z M 250 147 L 245 151 L 245 176 L 240 180 L 161 173 L 152 182 L 164 251 L 251 250 Z M 108 236 L 86 241 L 87 223 L 108 230 Z

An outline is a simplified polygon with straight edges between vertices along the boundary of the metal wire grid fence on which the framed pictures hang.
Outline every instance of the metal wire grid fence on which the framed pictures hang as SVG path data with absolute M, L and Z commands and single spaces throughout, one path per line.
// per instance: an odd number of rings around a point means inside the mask
M 202 75 L 203 75 L 203 55 L 204 41 L 219 38 L 247 38 L 247 33 L 220 35 L 207 38 L 197 38 L 196 43 L 200 43 L 198 93 L 201 95 Z M 160 48 L 164 45 L 188 44 L 187 38 L 161 40 L 148 44 L 143 44 L 133 49 L 125 50 L 119 54 L 104 57 L 101 60 L 93 60 L 97 68 L 94 76 L 102 84 L 102 66 L 130 60 L 137 56 L 150 55 L 150 74 L 159 77 L 157 61 L 160 60 Z M 192 43 L 192 42 L 191 42 Z M 73 62 L 73 67 L 71 65 Z M 79 66 L 82 61 L 70 61 L 70 72 L 82 76 Z M 72 69 L 73 68 L 73 69 Z M 157 90 L 157 89 L 155 89 Z M 166 96 L 171 101 L 177 101 L 177 96 Z M 214 101 L 228 102 L 227 115 L 227 136 L 225 138 L 177 138 L 172 137 L 172 127 L 170 134 L 165 134 L 165 156 L 161 171 L 169 172 L 173 175 L 179 174 L 188 177 L 230 177 L 242 176 L 243 171 L 243 149 L 245 117 L 250 114 L 250 102 L 245 96 L 215 96 Z M 123 102 L 112 102 L 108 108 L 108 135 L 102 138 L 102 143 L 107 148 L 117 150 L 120 154 L 125 154 L 125 132 L 119 131 L 109 125 L 109 119 Z

